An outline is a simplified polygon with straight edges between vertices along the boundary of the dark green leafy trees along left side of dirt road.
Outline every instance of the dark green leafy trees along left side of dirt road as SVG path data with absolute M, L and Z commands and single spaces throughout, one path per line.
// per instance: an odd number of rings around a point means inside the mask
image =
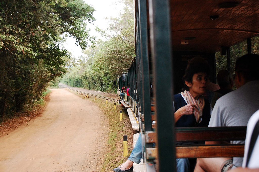
M 6 0 L 0 2 L 0 118 L 38 100 L 67 71 L 70 54 L 60 35 L 83 49 L 91 38 L 87 23 L 94 9 L 83 0 Z

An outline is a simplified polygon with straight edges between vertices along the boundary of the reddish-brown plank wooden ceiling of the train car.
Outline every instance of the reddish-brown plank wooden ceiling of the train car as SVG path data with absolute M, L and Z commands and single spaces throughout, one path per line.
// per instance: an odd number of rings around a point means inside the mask
M 238 5 L 219 8 L 225 2 Z M 259 0 L 172 0 L 170 7 L 173 50 L 213 53 L 259 34 Z M 186 37 L 195 39 L 181 45 Z

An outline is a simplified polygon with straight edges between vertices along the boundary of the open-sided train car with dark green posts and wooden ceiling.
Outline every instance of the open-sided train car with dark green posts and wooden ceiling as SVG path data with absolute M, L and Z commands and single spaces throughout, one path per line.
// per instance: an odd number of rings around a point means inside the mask
M 215 83 L 216 52 L 227 55 L 228 70 L 231 46 L 247 40 L 251 53 L 251 38 L 259 33 L 259 1 L 134 0 L 134 5 L 136 57 L 118 78 L 118 95 L 121 99 L 129 82 L 131 96 L 125 101 L 139 118 L 147 171 L 155 171 L 150 150 L 156 152 L 157 171 L 176 171 L 173 95 L 181 91 L 188 60 L 206 58 Z M 146 141 L 148 132 L 156 133 L 155 149 Z

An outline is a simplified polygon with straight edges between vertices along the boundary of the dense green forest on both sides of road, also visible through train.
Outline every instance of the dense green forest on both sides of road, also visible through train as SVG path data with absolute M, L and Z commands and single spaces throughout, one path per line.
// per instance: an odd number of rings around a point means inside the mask
M 113 81 L 127 71 L 134 54 L 132 0 L 122 0 L 124 10 L 110 18 L 105 38 L 88 33 L 95 11 L 83 0 L 0 1 L 0 122 L 37 101 L 50 83 L 116 92 Z M 84 56 L 75 59 L 62 48 L 67 36 L 76 39 Z M 251 39 L 259 53 L 258 37 Z M 247 53 L 247 42 L 232 46 L 235 59 Z M 227 68 L 226 56 L 216 53 L 216 70 Z

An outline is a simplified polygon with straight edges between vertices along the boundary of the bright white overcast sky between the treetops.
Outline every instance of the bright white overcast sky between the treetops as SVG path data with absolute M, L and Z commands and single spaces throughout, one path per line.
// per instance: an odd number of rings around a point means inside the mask
M 123 11 L 123 4 L 119 3 L 119 0 L 84 0 L 87 4 L 95 8 L 93 17 L 96 18 L 96 21 L 93 24 L 88 23 L 87 28 L 90 28 L 90 36 L 97 36 L 100 38 L 100 35 L 95 31 L 95 27 L 98 26 L 102 30 L 106 30 L 109 25 L 110 17 L 116 17 L 119 15 L 119 12 Z M 70 51 L 74 57 L 82 56 L 82 49 L 80 46 L 75 45 L 75 40 L 71 37 L 67 38 L 67 42 L 64 43 L 64 47 Z

